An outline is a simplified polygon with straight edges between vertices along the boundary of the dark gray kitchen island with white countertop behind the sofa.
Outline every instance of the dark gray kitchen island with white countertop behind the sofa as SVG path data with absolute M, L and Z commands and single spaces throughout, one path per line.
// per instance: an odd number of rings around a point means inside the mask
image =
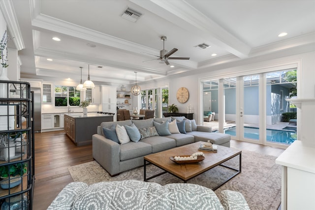
M 92 144 L 92 135 L 97 133 L 97 126 L 109 121 L 113 121 L 113 115 L 65 113 L 64 132 L 77 146 Z

